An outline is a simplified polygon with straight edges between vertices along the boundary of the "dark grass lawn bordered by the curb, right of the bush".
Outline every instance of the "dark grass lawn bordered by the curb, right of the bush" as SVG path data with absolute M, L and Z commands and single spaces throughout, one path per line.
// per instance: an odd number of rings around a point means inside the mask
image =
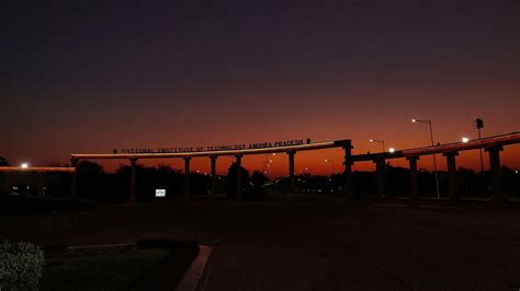
M 169 248 L 67 251 L 46 254 L 41 290 L 132 290 L 171 255 Z

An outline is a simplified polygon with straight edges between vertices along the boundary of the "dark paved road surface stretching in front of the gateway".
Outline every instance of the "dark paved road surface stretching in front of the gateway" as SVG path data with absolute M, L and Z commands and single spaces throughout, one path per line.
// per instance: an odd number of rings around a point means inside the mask
M 0 218 L 39 245 L 196 240 L 206 290 L 519 290 L 520 208 L 308 199 Z

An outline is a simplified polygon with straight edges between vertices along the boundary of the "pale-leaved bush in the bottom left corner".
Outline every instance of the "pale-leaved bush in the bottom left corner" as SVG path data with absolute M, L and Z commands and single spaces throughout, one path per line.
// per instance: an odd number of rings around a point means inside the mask
M 30 243 L 0 244 L 0 290 L 37 290 L 44 253 Z

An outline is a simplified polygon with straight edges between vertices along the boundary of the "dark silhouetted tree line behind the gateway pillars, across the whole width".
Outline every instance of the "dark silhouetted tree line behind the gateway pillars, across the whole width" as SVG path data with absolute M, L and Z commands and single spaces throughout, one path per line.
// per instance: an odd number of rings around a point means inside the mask
M 7 159 L 0 158 L 0 165 L 9 165 Z M 405 167 L 386 165 L 385 196 L 408 197 L 410 194 L 410 173 Z M 226 175 L 216 178 L 216 194 L 228 198 L 236 196 L 237 173 L 241 177 L 241 193 L 245 199 L 262 199 L 267 193 L 286 193 L 290 190 L 287 177 L 270 181 L 262 172 L 248 170 L 233 163 Z M 46 174 L 46 195 L 69 197 L 70 174 Z M 448 196 L 448 173 L 438 172 L 441 197 Z M 129 193 L 131 167 L 121 165 L 115 173 L 106 173 L 103 167 L 91 161 L 78 164 L 78 197 L 101 202 L 125 202 Z M 456 173 L 461 197 L 487 198 L 490 196 L 490 173 L 483 173 L 460 167 Z M 422 197 L 437 197 L 434 175 L 426 170 L 418 171 L 419 193 Z M 2 179 L 0 177 L 0 183 Z M 377 175 L 375 172 L 353 172 L 353 193 L 357 197 L 374 197 L 377 194 Z M 343 176 L 296 175 L 297 193 L 338 193 L 343 187 Z M 201 173 L 190 173 L 190 193 L 192 196 L 207 196 L 212 188 L 212 177 Z M 34 187 L 33 187 L 34 189 Z M 136 165 L 136 194 L 138 201 L 154 201 L 156 189 L 166 189 L 167 198 L 182 199 L 184 195 L 184 173 L 159 164 L 158 166 Z M 520 174 L 502 167 L 502 189 L 509 198 L 520 198 Z M 35 195 L 35 193 L 29 193 Z

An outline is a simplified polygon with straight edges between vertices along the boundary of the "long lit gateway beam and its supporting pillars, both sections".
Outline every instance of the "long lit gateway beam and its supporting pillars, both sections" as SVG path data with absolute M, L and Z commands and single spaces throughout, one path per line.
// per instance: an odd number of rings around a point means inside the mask
M 409 168 L 409 193 L 412 201 L 420 199 L 419 183 L 418 183 L 418 167 L 417 162 L 421 156 L 431 154 L 442 154 L 446 159 L 448 165 L 448 182 L 449 182 L 449 198 L 453 200 L 459 199 L 457 182 L 456 182 L 456 156 L 461 151 L 468 151 L 475 149 L 484 149 L 488 155 L 490 164 L 490 181 L 491 181 L 491 200 L 505 200 L 501 189 L 501 171 L 500 171 L 500 152 L 504 147 L 509 144 L 520 143 L 520 132 L 512 132 L 502 136 L 489 137 L 479 140 L 471 140 L 468 142 L 453 142 L 446 144 L 439 144 L 433 147 L 423 147 L 415 149 L 398 150 L 395 152 L 372 153 L 372 154 L 357 154 L 352 155 L 351 140 L 337 140 L 319 143 L 309 143 L 301 146 L 289 146 L 280 148 L 264 148 L 264 149 L 248 149 L 248 150 L 231 150 L 231 151 L 206 151 L 206 152 L 185 152 L 185 153 L 113 153 L 113 154 L 72 154 L 71 166 L 77 167 L 80 160 L 100 160 L 100 159 L 124 159 L 131 162 L 129 173 L 129 203 L 136 203 L 136 165 L 139 159 L 183 159 L 184 161 L 184 199 L 190 199 L 190 168 L 191 159 L 193 158 L 208 158 L 211 162 L 211 190 L 212 195 L 216 194 L 216 163 L 217 159 L 223 155 L 233 156 L 238 166 L 241 165 L 242 156 L 249 154 L 267 154 L 267 153 L 286 153 L 289 159 L 289 184 L 290 190 L 295 189 L 295 173 L 294 164 L 296 153 L 298 151 L 310 151 L 330 148 L 341 148 L 343 155 L 343 185 L 342 191 L 344 197 L 350 199 L 353 195 L 352 186 L 352 166 L 357 162 L 372 161 L 376 165 L 377 176 L 377 194 L 385 195 L 386 175 L 385 164 L 387 160 L 406 159 Z M 241 175 L 237 171 L 236 177 L 236 198 L 241 198 Z M 76 196 L 76 174 L 72 175 L 72 196 Z

